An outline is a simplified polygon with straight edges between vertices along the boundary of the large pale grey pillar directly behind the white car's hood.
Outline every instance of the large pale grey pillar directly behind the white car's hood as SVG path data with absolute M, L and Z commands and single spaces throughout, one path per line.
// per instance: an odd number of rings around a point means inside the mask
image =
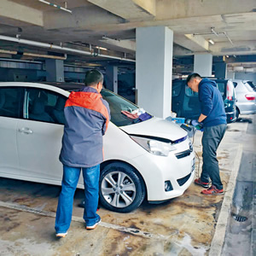
M 173 32 L 166 26 L 138 27 L 136 44 L 137 103 L 166 118 L 172 108 Z

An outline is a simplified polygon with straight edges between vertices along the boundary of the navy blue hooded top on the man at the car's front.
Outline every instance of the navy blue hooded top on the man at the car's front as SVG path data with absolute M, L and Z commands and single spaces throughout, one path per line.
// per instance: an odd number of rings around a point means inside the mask
M 227 123 L 224 101 L 214 81 L 201 79 L 198 97 L 201 102 L 201 113 L 207 116 L 202 121 L 204 127 Z

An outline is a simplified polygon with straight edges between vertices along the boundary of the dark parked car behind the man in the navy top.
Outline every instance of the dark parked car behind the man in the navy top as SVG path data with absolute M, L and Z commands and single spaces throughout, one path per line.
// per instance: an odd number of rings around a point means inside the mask
M 224 100 L 224 108 L 227 115 L 227 122 L 236 121 L 236 93 L 234 84 L 229 79 L 214 79 L 218 84 L 218 90 Z M 198 93 L 194 92 L 186 84 L 185 79 L 172 81 L 172 112 L 177 117 L 185 119 L 198 119 L 201 113 Z

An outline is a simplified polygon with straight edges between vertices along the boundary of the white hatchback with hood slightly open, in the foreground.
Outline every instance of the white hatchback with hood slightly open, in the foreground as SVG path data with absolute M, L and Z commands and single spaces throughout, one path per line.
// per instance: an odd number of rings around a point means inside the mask
M 0 83 L 0 177 L 61 185 L 63 108 L 81 84 Z M 138 107 L 109 90 L 111 122 L 103 137 L 100 200 L 131 212 L 145 196 L 152 203 L 183 195 L 194 178 L 195 152 L 187 132 L 164 119 L 139 122 L 122 110 Z M 83 189 L 82 177 L 79 188 Z

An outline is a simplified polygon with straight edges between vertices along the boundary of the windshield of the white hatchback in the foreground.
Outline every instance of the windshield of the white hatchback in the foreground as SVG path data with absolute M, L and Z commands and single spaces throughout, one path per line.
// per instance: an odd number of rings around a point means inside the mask
M 132 111 L 137 110 L 137 105 L 128 102 L 127 100 L 125 100 L 125 98 L 118 96 L 109 90 L 102 90 L 101 94 L 103 99 L 106 100 L 109 104 L 111 122 L 114 125 L 125 126 L 140 122 L 140 119 L 132 119 L 131 117 L 128 117 L 127 115 L 122 113 L 122 111 L 125 111 L 129 114 Z M 148 116 L 149 118 L 152 118 L 151 115 L 148 114 Z

